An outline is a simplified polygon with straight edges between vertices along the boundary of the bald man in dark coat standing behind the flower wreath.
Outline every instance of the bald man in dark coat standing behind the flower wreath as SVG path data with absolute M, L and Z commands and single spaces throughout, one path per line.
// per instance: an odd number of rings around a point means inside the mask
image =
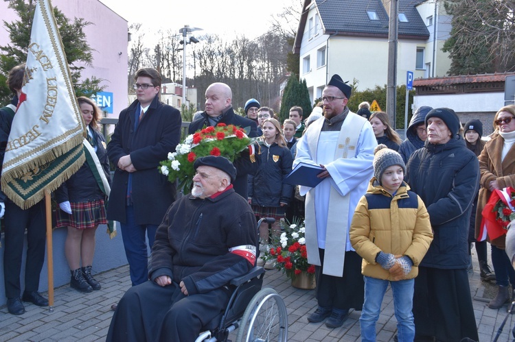
M 218 123 L 226 125 L 236 125 L 244 128 L 249 138 L 258 136 L 258 125 L 251 119 L 244 118 L 236 114 L 232 106 L 232 91 L 225 83 L 214 83 L 207 87 L 205 91 L 205 111 L 201 118 L 190 124 L 189 133 L 193 134 L 203 127 L 216 126 Z M 258 153 L 251 158 L 248 149 L 244 149 L 240 158 L 234 161 L 237 176 L 233 182 L 234 191 L 247 199 L 247 176 L 255 173 L 259 166 Z

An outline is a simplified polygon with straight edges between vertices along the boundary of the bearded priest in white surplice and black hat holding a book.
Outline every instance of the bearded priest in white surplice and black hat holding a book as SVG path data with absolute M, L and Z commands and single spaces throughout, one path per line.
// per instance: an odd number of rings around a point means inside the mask
M 374 131 L 367 119 L 350 112 L 352 88 L 334 75 L 323 89 L 324 116 L 314 121 L 297 143 L 299 162 L 320 165 L 323 181 L 314 188 L 300 187 L 306 195 L 306 247 L 315 265 L 317 310 L 308 321 L 336 328 L 349 309 L 363 306 L 361 258 L 352 249 L 349 227 L 352 215 L 374 169 Z

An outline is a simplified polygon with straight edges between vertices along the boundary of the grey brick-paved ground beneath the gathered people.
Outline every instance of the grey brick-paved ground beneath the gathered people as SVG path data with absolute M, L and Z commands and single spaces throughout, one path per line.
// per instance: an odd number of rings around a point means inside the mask
M 506 317 L 506 306 L 492 310 L 483 296 L 492 293 L 492 285 L 479 278 L 476 256 L 474 273 L 470 274 L 470 289 L 474 298 L 474 313 L 480 341 L 492 341 L 501 322 Z M 104 341 L 117 302 L 130 287 L 128 266 L 95 275 L 102 289 L 82 294 L 62 286 L 55 290 L 54 312 L 25 303 L 25 314 L 10 315 L 5 306 L 0 308 L 0 341 Z M 360 312 L 350 313 L 341 328 L 330 329 L 323 323 L 308 323 L 306 316 L 317 306 L 314 291 L 295 289 L 280 271 L 266 271 L 264 286 L 273 287 L 288 307 L 289 341 L 359 341 Z M 43 293 L 47 295 L 47 293 Z M 393 341 L 396 319 L 393 315 L 393 298 L 388 290 L 378 321 L 378 341 Z M 499 341 L 512 341 L 515 315 L 510 315 Z

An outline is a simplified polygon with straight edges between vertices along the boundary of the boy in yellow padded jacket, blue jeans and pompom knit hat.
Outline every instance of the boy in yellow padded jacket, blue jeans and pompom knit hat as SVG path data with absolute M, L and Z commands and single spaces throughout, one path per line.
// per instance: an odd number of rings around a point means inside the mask
M 363 258 L 365 303 L 359 319 L 361 341 L 376 341 L 376 321 L 388 284 L 398 321 L 398 341 L 413 341 L 413 284 L 433 241 L 422 199 L 403 182 L 406 166 L 385 145 L 374 150 L 374 178 L 361 197 L 350 226 L 350 241 Z

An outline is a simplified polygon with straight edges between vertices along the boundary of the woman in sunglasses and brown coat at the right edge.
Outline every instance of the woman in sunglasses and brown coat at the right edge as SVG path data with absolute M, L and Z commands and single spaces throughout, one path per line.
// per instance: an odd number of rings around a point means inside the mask
M 515 186 L 515 106 L 505 106 L 496 112 L 494 133 L 479 155 L 481 171 L 479 200 L 476 212 L 476 239 L 479 237 L 481 212 L 494 189 L 502 190 L 506 186 Z M 490 240 L 492 245 L 492 265 L 496 276 L 498 293 L 488 303 L 490 308 L 501 308 L 510 301 L 508 285 L 515 289 L 515 270 L 505 253 L 505 239 L 502 235 Z M 512 294 L 513 297 L 513 294 Z

